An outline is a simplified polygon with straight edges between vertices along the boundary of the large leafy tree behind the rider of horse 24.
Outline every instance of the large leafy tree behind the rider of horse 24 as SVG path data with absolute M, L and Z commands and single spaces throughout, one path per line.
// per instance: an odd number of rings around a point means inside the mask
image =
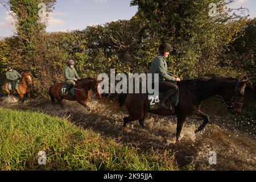
M 174 47 L 171 64 L 185 77 L 215 72 L 217 59 L 245 26 L 245 9 L 232 10 L 224 0 L 133 0 L 138 18 L 147 22 L 148 42 L 155 47 L 164 40 Z M 217 7 L 209 16 L 210 3 Z

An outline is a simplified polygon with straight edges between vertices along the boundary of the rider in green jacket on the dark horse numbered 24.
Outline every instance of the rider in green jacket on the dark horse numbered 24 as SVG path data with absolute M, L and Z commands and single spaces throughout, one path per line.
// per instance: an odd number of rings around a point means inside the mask
M 166 59 L 170 55 L 170 51 L 170 44 L 161 44 L 159 46 L 159 55 L 152 61 L 150 70 L 152 74 L 159 74 L 159 91 L 164 92 L 159 98 L 159 106 L 163 109 L 169 109 L 168 106 L 164 104 L 164 101 L 170 97 L 171 101 L 173 101 L 179 93 L 179 88 L 177 87 L 176 82 L 180 81 L 180 78 L 172 73 L 168 73 Z

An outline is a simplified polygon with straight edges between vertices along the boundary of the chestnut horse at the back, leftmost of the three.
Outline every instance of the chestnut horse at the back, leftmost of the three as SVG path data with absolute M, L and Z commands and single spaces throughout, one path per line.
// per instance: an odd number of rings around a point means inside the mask
M 8 89 L 9 81 L 6 81 L 2 85 L 2 89 L 10 96 L 11 92 Z M 24 95 L 27 94 L 27 98 L 30 99 L 31 87 L 34 85 L 31 73 L 23 73 L 18 84 L 17 92 L 19 94 L 20 101 L 24 102 Z

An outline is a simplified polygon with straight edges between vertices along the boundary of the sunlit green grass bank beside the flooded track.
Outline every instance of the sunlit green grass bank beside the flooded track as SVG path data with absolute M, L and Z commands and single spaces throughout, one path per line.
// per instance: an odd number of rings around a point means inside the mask
M 38 152 L 46 152 L 46 165 Z M 171 151 L 142 152 L 67 119 L 0 108 L 1 170 L 177 170 Z

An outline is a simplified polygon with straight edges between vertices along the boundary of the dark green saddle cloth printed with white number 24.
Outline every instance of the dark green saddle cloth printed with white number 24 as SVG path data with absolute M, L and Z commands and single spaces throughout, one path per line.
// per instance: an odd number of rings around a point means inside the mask
M 161 97 L 161 95 L 164 92 L 159 92 L 159 93 L 147 93 L 147 100 L 148 100 L 148 108 L 150 110 L 156 110 L 156 109 L 161 109 L 161 107 L 159 106 L 159 98 Z M 179 94 L 177 94 L 177 97 L 174 98 L 173 101 L 170 101 L 170 99 L 165 101 L 165 104 L 169 107 L 169 109 L 171 109 L 172 103 L 174 104 L 174 106 L 176 107 L 177 104 L 179 103 Z

